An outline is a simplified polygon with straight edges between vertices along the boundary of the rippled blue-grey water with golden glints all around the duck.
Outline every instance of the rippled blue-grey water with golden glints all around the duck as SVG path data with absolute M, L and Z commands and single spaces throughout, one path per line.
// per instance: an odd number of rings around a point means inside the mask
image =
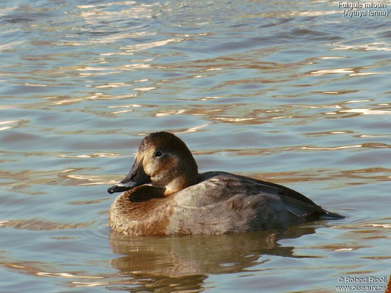
M 358 285 L 341 276 L 389 280 L 391 21 L 343 11 L 2 0 L 0 291 L 335 292 Z M 118 235 L 106 189 L 156 130 L 177 133 L 200 171 L 283 184 L 347 218 L 282 236 Z

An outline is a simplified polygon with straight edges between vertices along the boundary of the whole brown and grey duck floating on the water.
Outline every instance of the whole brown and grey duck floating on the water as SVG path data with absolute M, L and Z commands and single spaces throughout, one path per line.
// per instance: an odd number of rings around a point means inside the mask
M 344 218 L 282 185 L 223 171 L 198 173 L 186 144 L 165 131 L 141 141 L 129 174 L 108 192 L 122 192 L 109 209 L 109 226 L 129 236 L 282 230 Z

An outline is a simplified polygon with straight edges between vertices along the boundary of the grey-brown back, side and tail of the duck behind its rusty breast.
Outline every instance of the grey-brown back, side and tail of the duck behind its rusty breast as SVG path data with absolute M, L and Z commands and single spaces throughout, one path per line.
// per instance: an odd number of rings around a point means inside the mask
M 166 234 L 221 234 L 280 229 L 340 218 L 299 192 L 226 172 L 199 175 L 198 183 L 172 195 Z

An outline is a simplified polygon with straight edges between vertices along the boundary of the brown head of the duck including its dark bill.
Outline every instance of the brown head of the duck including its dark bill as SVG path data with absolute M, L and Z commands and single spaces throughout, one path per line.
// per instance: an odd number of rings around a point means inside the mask
M 109 193 L 122 192 L 143 184 L 165 188 L 173 194 L 195 184 L 198 168 L 185 143 L 169 132 L 154 132 L 138 146 L 133 167 Z

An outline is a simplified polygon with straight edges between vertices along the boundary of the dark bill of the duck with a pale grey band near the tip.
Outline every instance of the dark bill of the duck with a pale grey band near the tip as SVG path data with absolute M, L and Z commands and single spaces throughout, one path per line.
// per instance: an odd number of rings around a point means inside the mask
M 109 193 L 124 192 L 135 188 L 136 186 L 140 186 L 150 182 L 151 177 L 144 172 L 143 161 L 141 160 L 140 162 L 133 164 L 133 167 L 131 167 L 129 174 L 126 175 L 124 180 L 110 187 L 109 189 L 107 189 L 107 191 Z

